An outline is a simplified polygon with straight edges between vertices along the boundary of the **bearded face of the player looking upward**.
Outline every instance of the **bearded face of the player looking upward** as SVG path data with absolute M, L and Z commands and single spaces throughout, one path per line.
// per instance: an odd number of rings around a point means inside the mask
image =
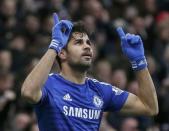
M 87 70 L 93 58 L 93 45 L 85 33 L 74 32 L 67 45 L 67 62 L 80 70 Z

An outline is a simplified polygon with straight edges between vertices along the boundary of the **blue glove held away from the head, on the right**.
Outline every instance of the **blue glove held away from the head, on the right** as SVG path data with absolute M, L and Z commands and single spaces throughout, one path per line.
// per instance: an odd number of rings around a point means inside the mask
M 146 68 L 147 61 L 144 56 L 141 37 L 129 33 L 125 34 L 121 27 L 117 28 L 117 32 L 121 39 L 122 51 L 130 60 L 133 70 L 138 71 Z

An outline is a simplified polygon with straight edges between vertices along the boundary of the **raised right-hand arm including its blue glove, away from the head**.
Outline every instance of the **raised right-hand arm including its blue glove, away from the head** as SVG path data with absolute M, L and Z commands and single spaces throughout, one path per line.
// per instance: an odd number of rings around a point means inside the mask
M 129 93 L 121 112 L 138 115 L 158 114 L 158 101 L 155 87 L 144 56 L 143 42 L 138 35 L 125 34 L 122 28 L 117 32 L 121 39 L 123 53 L 131 62 L 139 84 L 138 95 Z

